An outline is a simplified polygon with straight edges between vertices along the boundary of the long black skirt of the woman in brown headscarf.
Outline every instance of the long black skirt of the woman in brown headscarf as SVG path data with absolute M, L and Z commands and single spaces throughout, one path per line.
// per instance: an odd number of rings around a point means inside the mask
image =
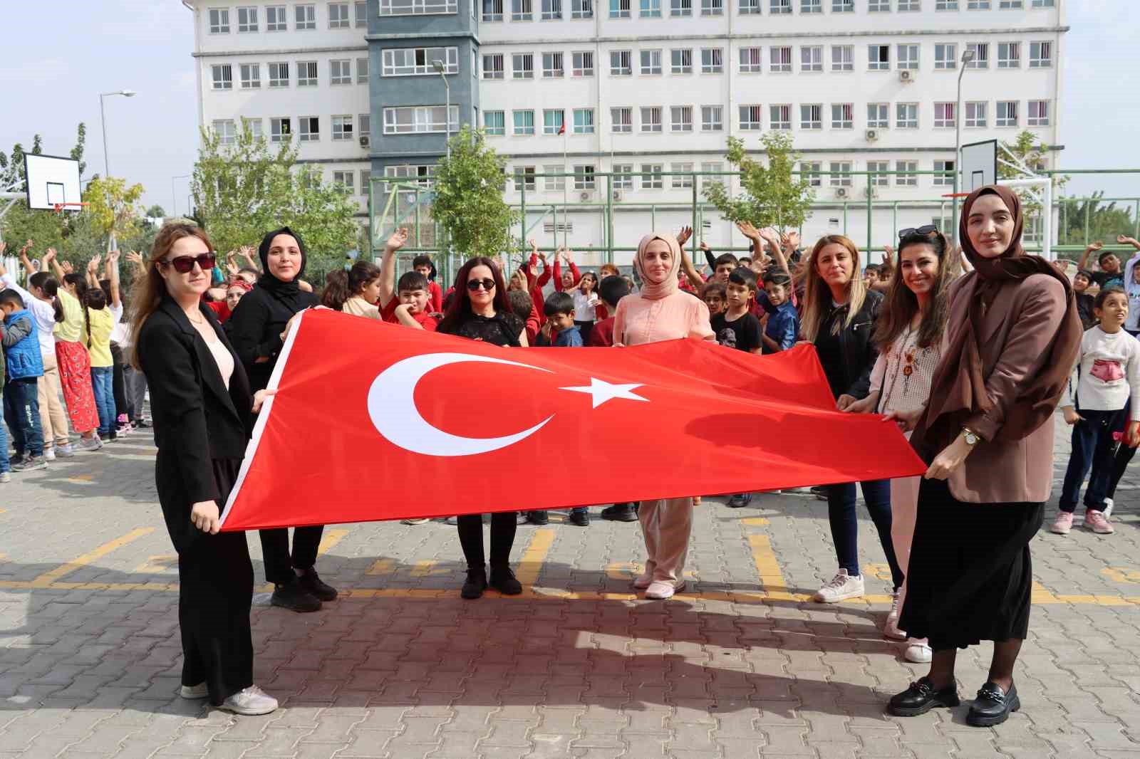
M 967 504 L 922 480 L 898 626 L 935 651 L 1024 640 L 1044 504 Z

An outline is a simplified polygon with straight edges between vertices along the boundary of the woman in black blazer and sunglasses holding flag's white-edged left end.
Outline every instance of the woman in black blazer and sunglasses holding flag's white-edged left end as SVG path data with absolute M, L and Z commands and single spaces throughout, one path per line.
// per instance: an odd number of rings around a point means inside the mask
M 254 401 L 241 361 L 201 302 L 213 264 L 201 229 L 162 228 L 133 299 L 132 364 L 150 389 L 155 484 L 178 550 L 180 694 L 264 715 L 277 701 L 253 685 L 253 564 L 245 533 L 219 532 L 218 524 L 252 432 L 250 411 L 264 393 Z

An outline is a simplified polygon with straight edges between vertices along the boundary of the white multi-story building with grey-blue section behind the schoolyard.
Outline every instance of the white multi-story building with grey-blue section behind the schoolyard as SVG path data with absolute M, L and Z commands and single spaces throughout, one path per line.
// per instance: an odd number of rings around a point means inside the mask
M 691 218 L 693 178 L 660 174 L 728 169 L 728 137 L 751 147 L 765 132 L 787 131 L 801 154 L 800 168 L 820 172 L 952 171 L 959 125 L 963 142 L 1010 140 L 1028 129 L 1059 145 L 1062 3 L 368 0 L 251 6 L 260 18 L 268 18 L 271 7 L 284 9 L 288 33 L 277 38 L 264 28 L 238 31 L 242 8 L 209 0 L 193 5 L 204 125 L 222 122 L 226 128 L 227 120 L 251 115 L 269 130 L 282 114 L 319 117 L 327 137 L 302 144 L 302 160 L 343 171 L 349 163 L 364 169 L 367 158 L 376 177 L 429 182 L 446 133 L 474 123 L 506 157 L 508 201 L 519 203 L 524 191 L 528 206 L 536 206 L 528 226 L 543 206 L 563 198 L 604 204 L 610 194 L 619 209 L 614 244 L 622 245 L 651 223 L 677 227 Z M 218 30 L 221 11 L 230 19 L 228 32 Z M 296 26 L 311 14 L 315 28 Z M 344 26 L 340 19 L 349 15 Z M 365 46 L 367 90 L 359 84 Z M 959 74 L 968 49 L 975 58 L 962 77 L 959 112 Z M 268 76 L 268 66 L 278 60 L 315 62 L 317 85 L 291 82 L 285 97 L 268 82 L 260 90 L 243 87 L 247 62 L 260 64 Z M 344 87 L 334 84 L 336 60 L 353 66 L 351 85 L 344 76 L 336 80 Z M 227 65 L 233 83 L 227 88 L 223 79 L 219 89 L 218 67 L 225 76 Z M 372 129 L 367 150 L 356 139 L 332 139 L 334 117 L 356 116 L 355 134 L 361 134 L 365 114 Z M 299 138 L 301 125 L 294 128 Z M 573 176 L 530 176 L 557 171 Z M 596 176 L 605 172 L 617 177 Z M 829 207 L 813 214 L 805 226 L 808 235 L 836 231 L 848 212 L 863 213 L 870 193 L 878 203 L 898 202 L 872 214 L 873 237 L 885 242 L 893 226 L 940 218 L 939 207 L 920 201 L 950 193 L 953 180 L 823 173 L 813 183 L 817 202 Z M 359 181 L 353 188 L 361 193 Z M 643 204 L 659 207 L 651 214 Z M 715 213 L 706 219 L 701 234 L 709 244 L 732 238 L 731 227 Z M 554 218 L 547 221 L 551 229 Z M 605 239 L 608 222 L 597 207 L 571 211 L 569 222 L 572 245 Z M 850 223 L 852 231 L 862 232 L 865 215 Z

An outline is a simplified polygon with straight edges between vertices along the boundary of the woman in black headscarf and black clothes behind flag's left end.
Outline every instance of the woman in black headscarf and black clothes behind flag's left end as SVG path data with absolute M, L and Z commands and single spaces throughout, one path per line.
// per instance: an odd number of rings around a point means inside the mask
M 301 236 L 288 227 L 267 234 L 258 248 L 264 274 L 258 286 L 237 303 L 226 323 L 226 332 L 253 392 L 263 390 L 284 346 L 283 334 L 293 315 L 317 305 L 317 296 L 298 286 L 304 274 L 306 253 Z M 274 583 L 272 604 L 298 612 L 317 611 L 321 601 L 336 598 L 336 590 L 320 580 L 314 564 L 324 528 L 293 530 L 293 553 L 288 530 L 261 530 L 266 579 Z

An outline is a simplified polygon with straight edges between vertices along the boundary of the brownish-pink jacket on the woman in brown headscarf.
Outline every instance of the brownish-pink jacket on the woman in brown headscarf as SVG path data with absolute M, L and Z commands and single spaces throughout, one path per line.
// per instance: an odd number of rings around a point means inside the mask
M 968 319 L 977 281 L 977 275 L 971 272 L 951 285 L 947 342 L 953 342 L 953 335 Z M 993 408 L 966 422 L 964 426 L 983 440 L 950 476 L 950 491 L 958 500 L 974 504 L 1049 500 L 1053 481 L 1052 419 L 1020 440 L 994 440 L 994 436 L 1009 407 L 1044 365 L 1066 305 L 1061 283 L 1039 274 L 1002 285 L 983 317 L 977 337 L 982 376 Z

